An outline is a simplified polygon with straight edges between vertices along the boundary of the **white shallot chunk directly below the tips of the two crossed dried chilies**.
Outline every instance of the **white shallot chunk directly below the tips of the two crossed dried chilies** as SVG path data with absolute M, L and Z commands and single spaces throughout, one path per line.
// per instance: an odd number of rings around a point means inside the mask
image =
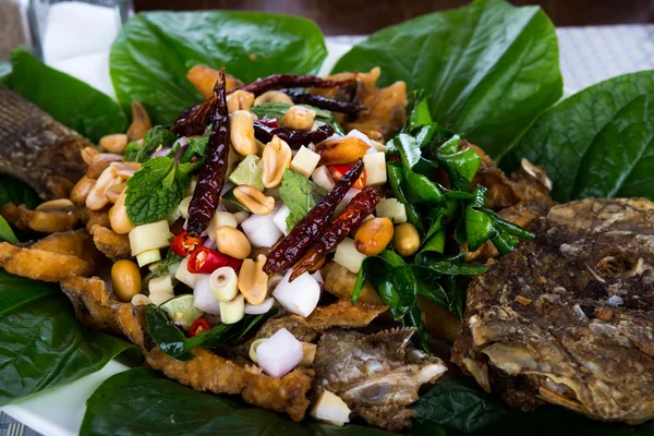
M 304 272 L 292 282 L 289 282 L 292 270 L 289 269 L 283 279 L 277 284 L 272 296 L 277 299 L 287 311 L 307 317 L 318 305 L 320 299 L 320 284 Z

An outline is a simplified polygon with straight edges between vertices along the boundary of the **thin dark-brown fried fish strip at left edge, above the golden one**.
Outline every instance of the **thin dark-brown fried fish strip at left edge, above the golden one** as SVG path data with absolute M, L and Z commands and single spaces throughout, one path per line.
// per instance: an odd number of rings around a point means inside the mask
M 58 233 L 73 230 L 84 219 L 84 207 L 74 207 L 66 210 L 36 211 L 29 210 L 25 205 L 14 206 L 7 204 L 0 215 L 7 221 L 23 231 L 37 231 L 40 233 Z

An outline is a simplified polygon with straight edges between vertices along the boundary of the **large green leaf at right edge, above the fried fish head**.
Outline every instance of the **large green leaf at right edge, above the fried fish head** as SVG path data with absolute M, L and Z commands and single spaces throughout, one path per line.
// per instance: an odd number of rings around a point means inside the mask
M 581 90 L 534 122 L 502 159 L 542 165 L 555 199 L 654 199 L 654 71 L 625 74 Z

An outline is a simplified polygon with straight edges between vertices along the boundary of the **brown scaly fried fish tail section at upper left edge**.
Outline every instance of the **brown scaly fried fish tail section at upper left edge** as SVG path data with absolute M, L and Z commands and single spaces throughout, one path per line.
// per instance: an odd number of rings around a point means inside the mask
M 36 105 L 0 85 L 0 173 L 45 199 L 68 197 L 86 172 L 80 152 L 93 146 Z

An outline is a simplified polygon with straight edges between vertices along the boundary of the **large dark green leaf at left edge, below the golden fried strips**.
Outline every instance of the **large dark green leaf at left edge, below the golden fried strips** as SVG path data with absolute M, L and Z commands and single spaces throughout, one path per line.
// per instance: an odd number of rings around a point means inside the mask
M 0 407 L 99 371 L 132 348 L 80 325 L 58 286 L 0 270 Z

